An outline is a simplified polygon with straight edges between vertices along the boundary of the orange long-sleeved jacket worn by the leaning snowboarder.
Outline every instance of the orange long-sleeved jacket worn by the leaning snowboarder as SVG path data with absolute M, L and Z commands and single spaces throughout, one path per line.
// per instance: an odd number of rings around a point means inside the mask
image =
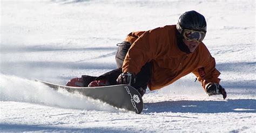
M 159 27 L 150 31 L 132 32 L 125 41 L 132 43 L 123 63 L 123 72 L 137 74 L 146 62 L 152 62 L 150 90 L 172 84 L 193 72 L 205 89 L 207 83 L 219 83 L 220 72 L 215 60 L 201 42 L 191 54 L 177 46 L 176 25 Z

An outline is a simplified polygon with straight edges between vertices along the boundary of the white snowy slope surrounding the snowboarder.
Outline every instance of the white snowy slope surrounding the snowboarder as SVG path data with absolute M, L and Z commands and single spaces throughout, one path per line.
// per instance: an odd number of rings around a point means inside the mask
M 142 114 L 53 91 L 116 68 L 116 43 L 132 31 L 173 25 L 196 10 L 217 62 L 221 95 L 208 97 L 194 75 L 147 91 Z M 0 131 L 256 132 L 255 1 L 1 0 Z

